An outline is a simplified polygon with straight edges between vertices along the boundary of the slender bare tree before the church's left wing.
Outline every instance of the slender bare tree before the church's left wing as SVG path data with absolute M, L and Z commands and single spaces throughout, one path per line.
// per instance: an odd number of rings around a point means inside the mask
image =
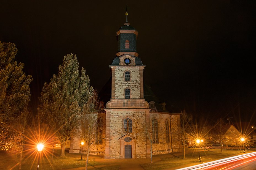
M 88 165 L 90 146 L 96 143 L 101 143 L 103 140 L 103 119 L 99 116 L 102 111 L 103 103 L 99 101 L 97 92 L 94 91 L 93 95 L 84 105 L 81 119 L 81 140 L 87 144 L 85 169 L 87 169 Z

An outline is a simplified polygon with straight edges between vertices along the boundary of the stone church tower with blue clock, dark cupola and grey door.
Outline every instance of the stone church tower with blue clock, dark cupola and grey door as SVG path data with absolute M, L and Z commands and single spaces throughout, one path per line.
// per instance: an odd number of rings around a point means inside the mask
M 137 142 L 138 127 L 134 126 L 136 116 L 142 117 L 140 121 L 144 123 L 149 121 L 145 119 L 149 115 L 149 103 L 143 94 L 145 65 L 138 58 L 138 31 L 130 26 L 127 16 L 126 12 L 126 22 L 116 32 L 118 52 L 110 65 L 111 98 L 105 108 L 106 136 L 110 139 L 106 140 L 105 158 L 138 158 L 137 145 L 147 153 L 146 141 Z

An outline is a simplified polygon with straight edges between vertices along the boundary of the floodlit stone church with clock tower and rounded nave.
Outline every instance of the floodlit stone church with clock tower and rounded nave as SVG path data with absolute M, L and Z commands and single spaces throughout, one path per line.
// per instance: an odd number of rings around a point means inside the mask
M 106 159 L 150 158 L 152 153 L 178 151 L 181 142 L 178 131 L 180 111 L 168 111 L 143 83 L 145 65 L 138 57 L 138 31 L 126 22 L 116 32 L 118 52 L 109 65 L 111 78 L 105 89 L 105 113 L 98 114 L 104 124 L 90 154 L 104 155 Z M 104 89 L 104 88 L 103 88 Z M 103 95 L 103 93 L 102 93 Z M 104 95 L 103 95 L 104 96 Z M 70 153 L 79 153 L 81 140 L 72 136 Z

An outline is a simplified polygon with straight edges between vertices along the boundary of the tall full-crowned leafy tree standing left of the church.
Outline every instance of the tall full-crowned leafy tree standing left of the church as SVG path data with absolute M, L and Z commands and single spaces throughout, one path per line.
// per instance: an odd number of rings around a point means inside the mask
M 83 106 L 93 92 L 85 69 L 81 69 L 80 75 L 78 68 L 76 55 L 64 56 L 58 75 L 53 75 L 50 83 L 44 84 L 39 97 L 39 118 L 55 130 L 61 144 L 60 156 L 65 156 L 65 142 L 76 134 Z

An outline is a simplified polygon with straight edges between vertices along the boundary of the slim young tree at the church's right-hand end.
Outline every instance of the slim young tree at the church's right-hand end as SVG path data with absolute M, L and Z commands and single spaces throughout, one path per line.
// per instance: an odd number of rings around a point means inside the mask
M 186 159 L 185 140 L 186 140 L 186 137 L 191 134 L 191 127 L 193 126 L 193 122 L 192 122 L 192 116 L 187 114 L 185 109 L 181 113 L 182 114 L 180 115 L 180 135 L 179 136 L 183 144 L 184 159 Z

